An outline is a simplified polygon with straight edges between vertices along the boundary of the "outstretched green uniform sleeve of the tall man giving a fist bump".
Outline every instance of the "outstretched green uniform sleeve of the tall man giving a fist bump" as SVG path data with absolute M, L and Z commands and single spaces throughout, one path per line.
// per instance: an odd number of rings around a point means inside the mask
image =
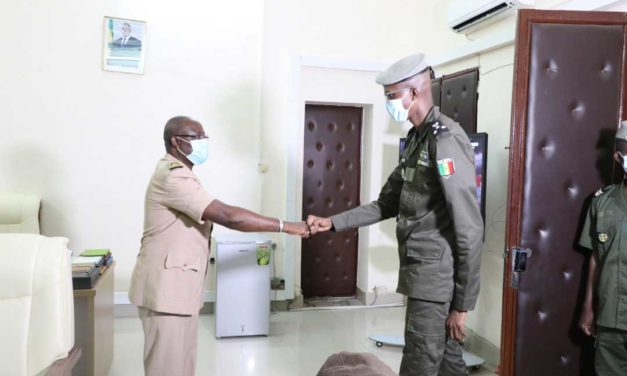
M 396 216 L 402 188 L 403 177 L 399 165 L 388 177 L 376 201 L 332 216 L 333 227 L 336 231 L 342 231 L 368 226 Z

